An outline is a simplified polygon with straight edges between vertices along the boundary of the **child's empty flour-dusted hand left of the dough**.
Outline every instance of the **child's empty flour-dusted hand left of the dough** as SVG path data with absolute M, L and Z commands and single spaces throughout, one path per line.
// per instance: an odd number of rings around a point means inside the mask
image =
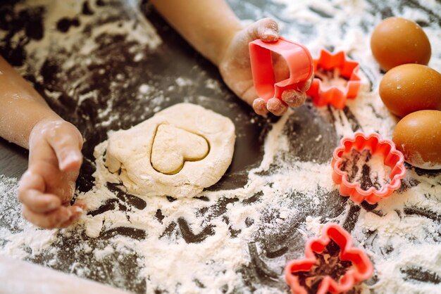
M 18 199 L 23 217 L 54 229 L 68 226 L 82 214 L 82 204 L 70 206 L 82 163 L 82 136 L 64 120 L 43 120 L 29 138 L 29 167 L 20 179 Z

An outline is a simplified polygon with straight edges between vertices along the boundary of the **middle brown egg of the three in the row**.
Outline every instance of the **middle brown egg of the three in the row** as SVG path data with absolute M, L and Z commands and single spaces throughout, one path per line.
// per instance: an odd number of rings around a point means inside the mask
M 441 110 L 441 74 L 426 65 L 399 65 L 381 80 L 380 97 L 399 117 L 418 110 Z

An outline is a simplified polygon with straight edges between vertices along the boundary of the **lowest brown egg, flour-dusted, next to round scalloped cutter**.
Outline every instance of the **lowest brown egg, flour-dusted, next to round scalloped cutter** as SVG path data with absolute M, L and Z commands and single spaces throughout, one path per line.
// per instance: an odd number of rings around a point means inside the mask
M 420 110 L 407 115 L 395 127 L 393 141 L 409 164 L 441 169 L 441 111 Z

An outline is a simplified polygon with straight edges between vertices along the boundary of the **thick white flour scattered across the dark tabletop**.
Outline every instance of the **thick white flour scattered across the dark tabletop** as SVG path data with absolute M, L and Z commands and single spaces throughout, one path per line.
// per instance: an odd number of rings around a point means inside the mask
M 382 75 L 371 56 L 368 34 L 361 29 L 361 26 L 367 26 L 371 31 L 373 25 L 379 22 L 380 15 L 364 13 L 368 4 L 361 0 L 277 2 L 287 6 L 280 11 L 280 18 L 300 27 L 313 27 L 313 33 L 305 33 L 295 28 L 297 26 L 289 27 L 281 22 L 285 37 L 303 42 L 314 56 L 323 46 L 334 46 L 335 50 L 347 51 L 361 63 L 363 85 L 359 96 L 347 103 L 359 126 L 354 127 L 353 120 L 348 120 L 344 110 L 320 108 L 317 110 L 318 116 L 326 117 L 330 112 L 339 137 L 349 136 L 356 129 L 361 129 L 367 133 L 378 132 L 385 139 L 390 139 L 396 120 L 378 96 L 378 83 Z M 426 1 L 424 5 L 441 11 L 441 4 L 435 1 Z M 308 6 L 317 7 L 334 18 L 323 18 Z M 395 7 L 393 4 L 390 6 Z M 411 20 L 428 22 L 425 14 L 418 11 L 395 13 Z M 440 71 L 440 27 L 426 27 L 425 31 L 433 49 L 430 65 Z M 151 43 L 156 44 L 157 37 L 152 38 Z M 178 79 L 176 84 L 186 87 L 189 82 Z M 216 88 L 218 82 L 209 81 L 206 87 Z M 149 85 L 139 87 L 140 97 L 149 94 Z M 320 233 L 323 224 L 343 222 L 349 214 L 354 213 L 354 205 L 348 200 L 337 216 L 325 217 L 327 210 L 326 207 L 322 210 L 321 204 L 342 200 L 335 194 L 337 186 L 331 179 L 332 154 L 325 163 L 302 162 L 290 155 L 293 148 L 300 148 L 290 146 L 287 135 L 287 127 L 290 127 L 288 122 L 293 115 L 295 113 L 290 110 L 273 124 L 266 137 L 261 165 L 249 171 L 249 181 L 243 188 L 205 191 L 201 193 L 206 197 L 204 200 L 170 201 L 163 197 L 141 197 L 147 203 L 142 209 L 132 207 L 124 211 L 113 208 L 97 215 L 84 215 L 75 227 L 61 231 L 43 231 L 25 223 L 14 196 L 17 182 L 0 177 L 1 221 L 11 224 L 6 228 L 2 226 L 0 231 L 0 253 L 20 259 L 44 255 L 51 257 L 45 263 L 47 266 L 57 267 L 57 255 L 61 254 L 61 249 L 54 244 L 59 239 L 74 238 L 83 233 L 96 238 L 106 231 L 128 226 L 145 230 L 145 238 L 136 240 L 117 234 L 109 238 L 108 245 L 100 248 L 92 248 L 89 243 L 68 244 L 70 252 L 73 255 L 87 253 L 98 261 L 119 255 L 115 264 L 123 262 L 125 254 L 135 252 L 138 257 L 135 263 L 141 271 L 133 276 L 133 281 L 137 283 L 146 279 L 147 293 L 154 293 L 155 290 L 169 293 L 285 293 L 285 288 L 271 285 L 253 291 L 242 279 L 242 271 L 238 269 L 251 263 L 249 243 L 255 242 L 259 236 L 271 237 L 273 232 L 289 230 L 296 222 L 301 223 L 292 234 L 302 234 L 306 242 Z M 321 142 L 325 135 L 319 134 L 314 140 Z M 105 146 L 106 142 L 103 142 L 95 150 L 97 172 L 94 173 L 94 187 L 78 196 L 78 200 L 87 204 L 89 211 L 96 210 L 108 200 L 121 203 L 116 193 L 106 187 L 106 182 L 117 182 L 117 177 L 104 166 L 102 155 Z M 361 284 L 361 293 L 440 292 L 441 174 L 418 175 L 409 168 L 403 183 L 402 189 L 380 202 L 374 210 L 368 211 L 364 207 L 359 210 L 352 236 L 355 245 L 366 250 L 375 267 L 374 278 Z M 251 201 L 256 195 L 259 196 L 257 200 Z M 219 199 L 227 203 L 225 213 L 218 214 L 213 209 Z M 161 215 L 158 216 L 159 210 Z M 318 214 L 320 211 L 321 215 Z M 426 217 L 423 216 L 425 214 Z M 306 217 L 304 221 L 299 221 L 302 215 Z M 199 243 L 187 243 L 179 233 L 185 226 L 180 219 L 185 219 L 192 234 L 208 231 L 209 236 Z M 178 226 L 180 229 L 175 229 Z M 233 233 L 235 236 L 232 236 Z M 282 255 L 264 260 L 266 267 L 278 274 L 274 281 L 282 283 L 282 271 L 288 259 L 303 255 L 304 243 L 293 243 L 290 247 L 297 248 L 290 257 Z M 263 245 L 257 242 L 258 253 L 262 252 L 262 248 Z M 426 270 L 440 283 L 409 279 L 412 276 L 409 273 L 414 269 Z M 94 269 L 89 267 L 87 261 L 77 260 L 66 271 L 89 277 Z M 112 283 L 125 287 L 123 282 Z

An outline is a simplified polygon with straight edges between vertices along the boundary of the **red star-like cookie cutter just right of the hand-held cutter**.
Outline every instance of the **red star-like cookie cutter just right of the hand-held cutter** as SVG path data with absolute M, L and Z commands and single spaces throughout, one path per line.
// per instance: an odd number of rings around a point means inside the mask
M 348 79 L 345 87 L 332 86 L 323 89 L 322 82 L 318 78 L 314 78 L 311 87 L 306 94 L 312 97 L 316 106 L 326 106 L 328 104 L 337 109 L 342 109 L 346 105 L 347 98 L 353 99 L 357 96 L 361 79 L 357 73 L 359 72 L 359 63 L 354 60 L 347 60 L 344 51 L 335 54 L 328 50 L 322 49 L 320 57 L 314 59 L 314 72 L 319 68 L 323 70 L 340 70 L 340 77 Z

